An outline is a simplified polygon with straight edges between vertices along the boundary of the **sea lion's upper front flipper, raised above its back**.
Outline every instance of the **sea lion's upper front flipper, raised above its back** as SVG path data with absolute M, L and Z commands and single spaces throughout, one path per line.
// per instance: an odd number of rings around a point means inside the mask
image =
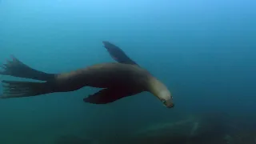
M 134 62 L 131 58 L 129 58 L 127 54 L 118 46 L 115 46 L 114 44 L 107 41 L 103 41 L 103 44 L 106 50 L 109 52 L 111 57 L 114 58 L 115 61 L 138 66 L 138 64 Z

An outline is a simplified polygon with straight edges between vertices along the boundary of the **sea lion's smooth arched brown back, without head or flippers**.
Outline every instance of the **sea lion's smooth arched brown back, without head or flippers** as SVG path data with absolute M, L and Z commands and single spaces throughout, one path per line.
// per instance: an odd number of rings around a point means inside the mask
M 58 74 L 56 81 L 73 85 L 93 86 L 98 88 L 141 85 L 148 75 L 147 70 L 138 66 L 122 63 L 101 63 L 84 69 Z

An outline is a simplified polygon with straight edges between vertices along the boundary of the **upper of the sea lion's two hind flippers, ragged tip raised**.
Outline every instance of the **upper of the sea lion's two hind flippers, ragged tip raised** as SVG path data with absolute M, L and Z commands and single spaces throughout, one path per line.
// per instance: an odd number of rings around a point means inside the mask
M 3 64 L 1 68 L 2 70 L 0 70 L 0 74 L 19 78 L 32 78 L 35 80 L 49 81 L 54 79 L 55 76 L 55 74 L 47 74 L 42 71 L 34 70 L 14 56 L 12 56 L 12 61 L 7 60 L 6 64 Z

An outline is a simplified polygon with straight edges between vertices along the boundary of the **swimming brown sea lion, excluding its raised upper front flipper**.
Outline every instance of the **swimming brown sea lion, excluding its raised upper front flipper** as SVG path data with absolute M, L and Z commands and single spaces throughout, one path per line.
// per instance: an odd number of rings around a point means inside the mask
M 162 82 L 147 70 L 136 64 L 126 64 L 126 61 L 100 63 L 67 73 L 48 74 L 34 70 L 18 58 L 12 59 L 2 66 L 3 70 L 0 74 L 46 82 L 2 81 L 4 91 L 0 98 L 21 98 L 69 92 L 84 86 L 92 86 L 102 88 L 102 90 L 84 98 L 84 102 L 106 104 L 148 91 L 166 107 L 174 107 L 173 97 Z

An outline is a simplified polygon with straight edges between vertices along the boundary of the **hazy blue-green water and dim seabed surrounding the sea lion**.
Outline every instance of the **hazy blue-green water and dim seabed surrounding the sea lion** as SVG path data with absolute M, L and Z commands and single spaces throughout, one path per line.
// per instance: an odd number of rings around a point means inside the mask
M 48 73 L 114 62 L 119 46 L 168 86 L 107 105 L 98 89 L 0 101 L 1 144 L 256 143 L 256 1 L 1 0 L 0 62 Z M 1 76 L 1 80 L 17 80 Z M 2 90 L 2 87 L 0 88 Z

